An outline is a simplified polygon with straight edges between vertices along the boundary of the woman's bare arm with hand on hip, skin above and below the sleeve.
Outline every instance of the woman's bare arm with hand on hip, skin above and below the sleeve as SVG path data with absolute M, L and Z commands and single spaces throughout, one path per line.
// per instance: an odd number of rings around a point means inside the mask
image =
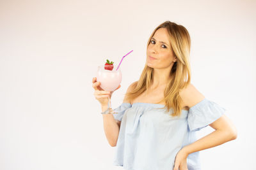
M 180 97 L 185 106 L 188 106 L 189 108 L 205 98 L 192 84 L 186 89 L 182 89 Z M 190 153 L 212 148 L 237 138 L 236 127 L 224 114 L 209 125 L 215 129 L 215 131 L 204 138 L 198 139 L 194 143 L 184 146 L 175 157 L 173 170 L 187 170 L 187 157 Z

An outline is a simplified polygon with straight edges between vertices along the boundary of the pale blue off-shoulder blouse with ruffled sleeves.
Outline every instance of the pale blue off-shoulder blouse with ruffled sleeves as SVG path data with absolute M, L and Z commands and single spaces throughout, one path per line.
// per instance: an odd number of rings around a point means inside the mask
M 172 117 L 163 104 L 122 103 L 114 110 L 120 120 L 113 165 L 126 170 L 172 170 L 179 150 L 195 142 L 196 131 L 221 117 L 226 111 L 204 98 Z M 199 152 L 190 153 L 189 170 L 201 170 Z

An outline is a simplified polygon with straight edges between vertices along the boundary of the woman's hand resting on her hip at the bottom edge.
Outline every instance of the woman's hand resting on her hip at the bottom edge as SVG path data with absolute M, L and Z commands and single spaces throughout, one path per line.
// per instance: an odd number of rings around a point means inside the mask
M 188 170 L 187 157 L 188 153 L 182 148 L 175 157 L 173 170 Z

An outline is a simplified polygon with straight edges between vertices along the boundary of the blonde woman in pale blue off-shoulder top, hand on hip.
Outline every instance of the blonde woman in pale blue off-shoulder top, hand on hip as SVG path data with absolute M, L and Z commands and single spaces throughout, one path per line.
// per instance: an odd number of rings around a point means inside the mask
M 151 34 L 140 80 L 132 83 L 116 115 L 103 116 L 104 131 L 116 146 L 114 164 L 127 170 L 198 170 L 199 151 L 237 138 L 225 108 L 205 98 L 191 83 L 190 37 L 182 25 L 166 21 Z M 93 78 L 102 111 L 111 93 Z M 120 85 L 117 89 L 120 88 Z M 122 122 L 122 123 L 121 123 Z M 196 139 L 210 125 L 214 132 Z

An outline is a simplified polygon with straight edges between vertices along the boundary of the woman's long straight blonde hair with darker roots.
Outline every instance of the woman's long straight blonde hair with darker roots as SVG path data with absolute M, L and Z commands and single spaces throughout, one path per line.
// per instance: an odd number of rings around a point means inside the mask
M 152 32 L 150 38 L 148 39 L 148 45 L 151 42 L 152 36 L 159 28 L 165 28 L 168 31 L 169 39 L 171 42 L 172 50 L 177 57 L 177 61 L 174 62 L 172 70 L 170 71 L 169 82 L 164 90 L 164 97 L 159 103 L 165 101 L 164 108 L 167 108 L 168 112 L 172 108 L 172 116 L 179 116 L 182 110 L 182 99 L 179 96 L 180 89 L 186 88 L 190 83 L 190 65 L 189 65 L 189 53 L 191 41 L 187 29 L 182 26 L 175 24 L 174 22 L 166 21 L 160 24 Z M 140 80 L 134 83 L 134 87 L 131 92 L 127 92 L 125 96 L 128 101 L 132 101 L 136 97 L 140 96 L 143 92 L 148 92 L 150 85 L 152 85 L 153 78 L 153 68 L 148 67 L 147 63 L 141 73 Z

